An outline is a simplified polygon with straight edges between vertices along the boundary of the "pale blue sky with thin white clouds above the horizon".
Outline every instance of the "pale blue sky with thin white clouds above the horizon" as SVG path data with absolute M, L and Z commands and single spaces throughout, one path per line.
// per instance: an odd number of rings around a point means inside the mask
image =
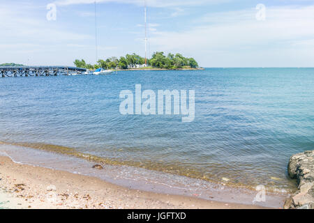
M 0 63 L 96 63 L 94 1 L 0 0 Z M 144 0 L 96 1 L 97 59 L 144 56 Z M 207 68 L 314 67 L 314 0 L 147 0 L 147 6 L 149 55 L 181 53 Z

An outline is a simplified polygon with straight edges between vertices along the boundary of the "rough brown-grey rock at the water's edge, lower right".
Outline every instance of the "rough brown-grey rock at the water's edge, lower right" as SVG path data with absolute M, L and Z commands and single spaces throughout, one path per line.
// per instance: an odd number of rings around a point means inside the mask
M 314 209 L 314 151 L 305 151 L 290 157 L 288 173 L 296 178 L 298 191 L 285 201 L 285 209 Z

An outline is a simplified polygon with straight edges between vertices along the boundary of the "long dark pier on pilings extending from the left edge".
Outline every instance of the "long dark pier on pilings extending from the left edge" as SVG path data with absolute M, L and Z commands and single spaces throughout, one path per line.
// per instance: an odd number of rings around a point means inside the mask
M 73 75 L 86 72 L 87 69 L 68 66 L 20 66 L 0 67 L 1 77 L 30 77 Z

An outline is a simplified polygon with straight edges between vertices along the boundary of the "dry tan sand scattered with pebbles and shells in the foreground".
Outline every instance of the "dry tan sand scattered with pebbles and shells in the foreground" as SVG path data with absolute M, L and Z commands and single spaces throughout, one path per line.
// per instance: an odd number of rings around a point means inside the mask
M 4 208 L 33 209 L 262 208 L 130 190 L 94 177 L 17 164 L 9 157 L 0 157 L 0 200 Z

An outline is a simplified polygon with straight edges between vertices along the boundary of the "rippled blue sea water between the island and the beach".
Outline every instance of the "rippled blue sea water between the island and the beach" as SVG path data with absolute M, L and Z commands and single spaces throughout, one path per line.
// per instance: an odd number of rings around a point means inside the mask
M 195 120 L 121 115 L 119 93 L 134 92 L 135 84 L 142 91 L 195 90 Z M 314 148 L 314 68 L 8 77 L 0 89 L 4 144 L 161 176 L 290 192 L 296 184 L 287 176 L 289 157 Z

